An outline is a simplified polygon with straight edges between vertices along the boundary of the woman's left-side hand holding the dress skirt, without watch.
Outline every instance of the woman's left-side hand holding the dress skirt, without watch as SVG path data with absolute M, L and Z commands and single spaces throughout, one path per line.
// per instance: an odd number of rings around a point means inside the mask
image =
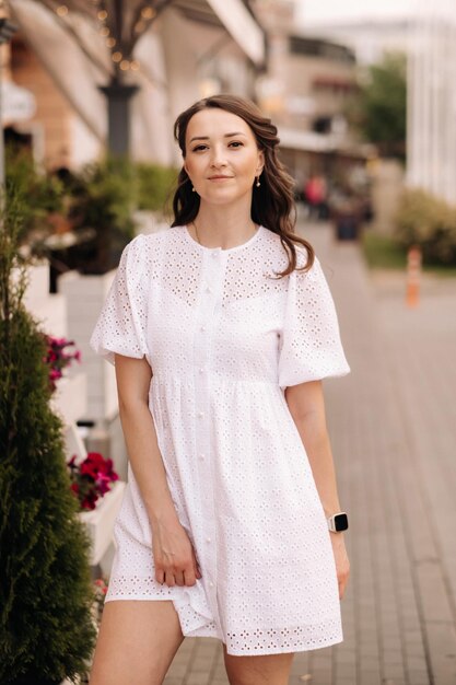
M 152 525 L 152 553 L 160 584 L 190 587 L 201 578 L 194 547 L 177 518 Z

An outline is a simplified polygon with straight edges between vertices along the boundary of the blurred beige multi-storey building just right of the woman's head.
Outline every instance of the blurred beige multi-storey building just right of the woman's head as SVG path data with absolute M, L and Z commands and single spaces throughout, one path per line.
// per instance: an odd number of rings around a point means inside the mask
M 269 46 L 258 102 L 279 126 L 282 159 L 297 186 L 313 173 L 335 176 L 340 164 L 364 159 L 344 117 L 356 89 L 353 50 L 300 32 L 291 0 L 257 0 L 254 8 Z

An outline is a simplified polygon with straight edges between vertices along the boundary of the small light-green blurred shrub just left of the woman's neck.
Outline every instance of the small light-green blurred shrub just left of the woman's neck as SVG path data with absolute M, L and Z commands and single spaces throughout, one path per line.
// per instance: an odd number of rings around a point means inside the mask
M 136 165 L 138 175 L 138 209 L 161 211 L 165 213 L 171 201 L 178 172 L 168 166 L 139 162 Z

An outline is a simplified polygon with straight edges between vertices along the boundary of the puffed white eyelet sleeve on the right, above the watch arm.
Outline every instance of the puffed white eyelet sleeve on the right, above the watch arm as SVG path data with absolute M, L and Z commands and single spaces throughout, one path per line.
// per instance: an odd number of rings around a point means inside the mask
M 279 385 L 349 373 L 336 307 L 317 258 L 308 271 L 290 275 L 279 356 Z

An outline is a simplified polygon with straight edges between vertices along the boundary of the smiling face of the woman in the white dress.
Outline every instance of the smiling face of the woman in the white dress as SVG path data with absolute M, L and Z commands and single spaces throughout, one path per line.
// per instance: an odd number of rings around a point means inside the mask
M 188 123 L 186 170 L 202 201 L 213 205 L 250 198 L 264 153 L 241 117 L 224 109 L 202 109 Z

